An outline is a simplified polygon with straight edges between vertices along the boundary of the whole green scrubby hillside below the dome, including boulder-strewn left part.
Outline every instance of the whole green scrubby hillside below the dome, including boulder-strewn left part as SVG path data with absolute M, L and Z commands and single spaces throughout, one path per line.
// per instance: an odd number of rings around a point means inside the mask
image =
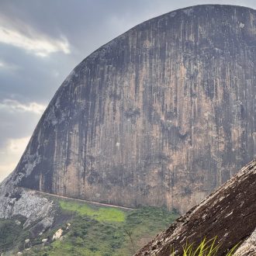
M 153 207 L 119 209 L 74 199 L 47 197 L 57 207 L 53 226 L 42 234 L 37 224 L 23 228 L 26 218 L 20 215 L 0 220 L 0 253 L 128 256 L 178 217 L 176 213 Z M 54 234 L 61 228 L 61 239 L 53 240 Z

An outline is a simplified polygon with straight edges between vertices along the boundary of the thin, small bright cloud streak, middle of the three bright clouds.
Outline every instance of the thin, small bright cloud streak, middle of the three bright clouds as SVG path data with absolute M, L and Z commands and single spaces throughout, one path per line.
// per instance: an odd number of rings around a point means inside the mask
M 46 109 L 46 106 L 38 104 L 36 102 L 22 104 L 13 99 L 4 99 L 2 102 L 0 102 L 0 109 L 11 112 L 33 112 L 35 114 L 42 114 L 43 111 Z

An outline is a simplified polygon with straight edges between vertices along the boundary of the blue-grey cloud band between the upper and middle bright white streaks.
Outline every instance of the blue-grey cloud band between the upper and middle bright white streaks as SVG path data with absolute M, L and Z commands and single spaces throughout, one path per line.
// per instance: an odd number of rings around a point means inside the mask
M 16 47 L 1 46 L 0 58 L 15 65 L 15 70 L 0 68 L 0 99 L 46 103 L 71 71 L 74 61 L 65 54 L 53 54 L 40 60 Z M 59 75 L 54 75 L 58 71 Z

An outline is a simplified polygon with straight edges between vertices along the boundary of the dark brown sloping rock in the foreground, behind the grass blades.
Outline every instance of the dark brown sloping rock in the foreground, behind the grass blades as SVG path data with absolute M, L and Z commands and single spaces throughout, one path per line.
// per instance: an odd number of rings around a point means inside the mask
M 171 224 L 168 230 L 142 248 L 136 255 L 182 255 L 186 242 L 195 247 L 206 237 L 217 237 L 218 256 L 227 255 L 239 244 L 236 256 L 256 255 L 256 160 L 247 164 L 230 181 L 209 195 L 198 206 Z M 244 241 L 244 243 L 243 243 Z

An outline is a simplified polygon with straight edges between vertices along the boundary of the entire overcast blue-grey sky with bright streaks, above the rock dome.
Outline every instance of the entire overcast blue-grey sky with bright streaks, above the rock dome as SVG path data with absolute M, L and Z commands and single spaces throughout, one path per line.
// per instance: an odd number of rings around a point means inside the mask
M 199 4 L 255 0 L 0 0 L 0 182 L 16 167 L 67 74 L 140 22 Z

